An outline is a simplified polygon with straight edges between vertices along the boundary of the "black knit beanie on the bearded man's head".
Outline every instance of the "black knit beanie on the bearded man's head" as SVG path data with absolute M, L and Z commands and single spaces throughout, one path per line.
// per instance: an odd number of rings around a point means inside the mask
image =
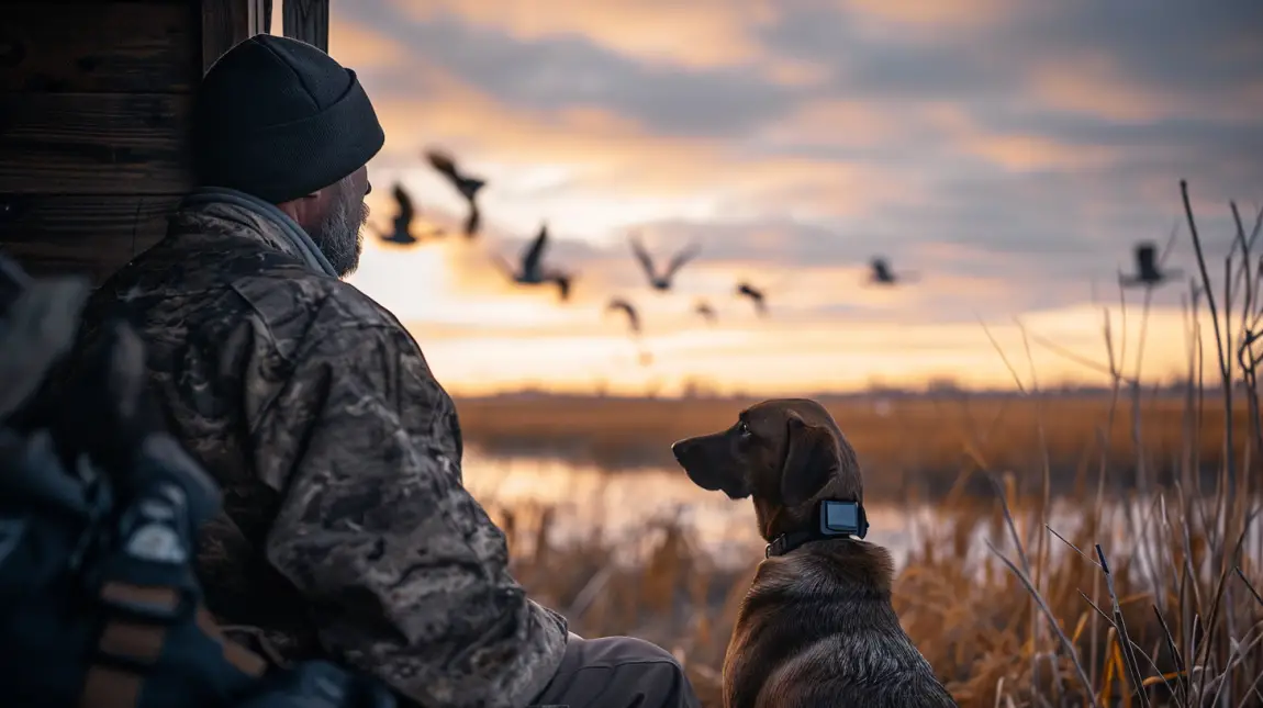
M 355 72 L 297 39 L 256 34 L 216 61 L 193 107 L 193 170 L 279 204 L 328 187 L 385 143 Z

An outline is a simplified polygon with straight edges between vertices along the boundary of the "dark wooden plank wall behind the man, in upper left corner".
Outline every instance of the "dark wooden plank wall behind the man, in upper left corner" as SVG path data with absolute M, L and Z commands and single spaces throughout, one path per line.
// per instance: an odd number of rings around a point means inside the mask
M 197 8 L 30 0 L 0 11 L 0 247 L 33 273 L 99 283 L 162 236 L 189 187 Z

